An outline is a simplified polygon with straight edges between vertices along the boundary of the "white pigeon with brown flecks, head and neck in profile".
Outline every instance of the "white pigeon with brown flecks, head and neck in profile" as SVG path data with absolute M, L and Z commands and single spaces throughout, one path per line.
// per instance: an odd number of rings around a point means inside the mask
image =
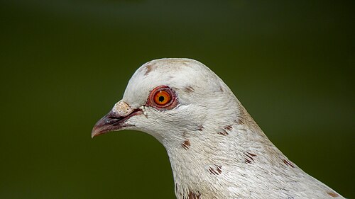
M 285 157 L 224 81 L 194 59 L 139 67 L 92 137 L 119 130 L 163 144 L 178 199 L 343 198 Z

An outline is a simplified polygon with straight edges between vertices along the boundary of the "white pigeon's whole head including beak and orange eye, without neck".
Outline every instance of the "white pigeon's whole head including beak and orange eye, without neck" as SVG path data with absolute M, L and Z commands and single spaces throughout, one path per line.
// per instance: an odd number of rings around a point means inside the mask
M 237 100 L 208 67 L 193 59 L 155 59 L 133 74 L 121 101 L 97 122 L 92 137 L 139 130 L 160 142 L 216 132 L 237 117 Z

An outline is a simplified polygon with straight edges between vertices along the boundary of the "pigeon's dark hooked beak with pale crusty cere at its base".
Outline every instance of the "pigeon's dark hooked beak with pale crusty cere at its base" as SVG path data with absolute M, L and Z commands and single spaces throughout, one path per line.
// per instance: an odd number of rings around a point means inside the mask
M 107 115 L 97 121 L 92 128 L 91 137 L 102 135 L 105 132 L 119 131 L 124 127 L 131 126 L 126 124 L 126 120 L 140 113 L 142 113 L 141 109 L 133 109 L 124 101 L 119 101 Z

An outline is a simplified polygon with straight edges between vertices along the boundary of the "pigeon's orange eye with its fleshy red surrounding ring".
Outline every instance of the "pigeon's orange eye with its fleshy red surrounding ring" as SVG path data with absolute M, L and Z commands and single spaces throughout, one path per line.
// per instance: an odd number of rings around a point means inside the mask
M 169 86 L 157 86 L 149 94 L 147 105 L 159 110 L 170 110 L 178 105 L 178 99 Z

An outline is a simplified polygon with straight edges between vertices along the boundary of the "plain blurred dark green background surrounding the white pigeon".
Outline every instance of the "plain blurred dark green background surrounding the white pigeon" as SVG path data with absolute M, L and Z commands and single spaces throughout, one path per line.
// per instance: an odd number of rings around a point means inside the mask
M 291 160 L 355 197 L 354 1 L 0 2 L 0 198 L 175 198 L 153 137 L 90 137 L 161 57 L 206 64 Z

